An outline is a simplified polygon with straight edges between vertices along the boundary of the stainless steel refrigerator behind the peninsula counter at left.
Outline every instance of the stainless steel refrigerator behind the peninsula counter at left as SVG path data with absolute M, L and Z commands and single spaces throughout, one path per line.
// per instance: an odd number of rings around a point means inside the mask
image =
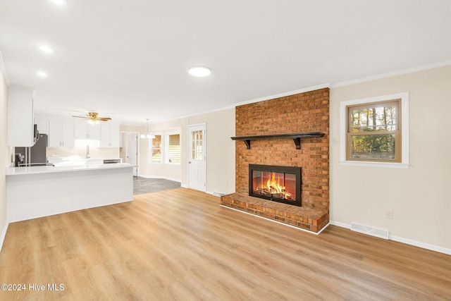
M 16 166 L 39 166 L 47 163 L 47 134 L 39 134 L 39 139 L 32 147 L 15 147 Z M 19 155 L 23 157 L 20 160 Z M 18 161 L 19 160 L 19 161 Z

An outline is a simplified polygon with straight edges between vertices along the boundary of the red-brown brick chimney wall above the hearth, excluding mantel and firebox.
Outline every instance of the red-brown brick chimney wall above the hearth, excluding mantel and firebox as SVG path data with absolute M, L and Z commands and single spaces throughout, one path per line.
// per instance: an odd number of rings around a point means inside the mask
M 322 132 L 324 137 L 252 140 L 251 149 L 235 142 L 236 192 L 248 193 L 249 164 L 302 168 L 302 206 L 329 209 L 329 89 L 236 107 L 239 136 Z

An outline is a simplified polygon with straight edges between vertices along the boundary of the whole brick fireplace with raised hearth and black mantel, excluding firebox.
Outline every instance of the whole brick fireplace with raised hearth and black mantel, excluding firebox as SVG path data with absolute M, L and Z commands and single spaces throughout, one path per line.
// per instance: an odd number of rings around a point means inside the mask
M 329 89 L 237 106 L 235 113 L 236 192 L 221 205 L 319 232 L 329 222 Z M 249 164 L 299 168 L 301 206 L 250 196 Z

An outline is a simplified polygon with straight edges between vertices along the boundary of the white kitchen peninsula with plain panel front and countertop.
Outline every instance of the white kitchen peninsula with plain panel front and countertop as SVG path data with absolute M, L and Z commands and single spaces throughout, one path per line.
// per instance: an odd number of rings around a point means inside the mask
M 132 164 L 6 168 L 8 222 L 133 199 Z

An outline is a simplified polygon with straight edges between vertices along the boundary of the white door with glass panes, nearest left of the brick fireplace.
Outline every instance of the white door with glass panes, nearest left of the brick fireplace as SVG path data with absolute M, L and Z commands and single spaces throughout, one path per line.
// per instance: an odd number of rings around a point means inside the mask
M 190 153 L 188 158 L 190 172 L 190 188 L 206 191 L 206 144 L 205 144 L 205 125 L 190 125 Z

